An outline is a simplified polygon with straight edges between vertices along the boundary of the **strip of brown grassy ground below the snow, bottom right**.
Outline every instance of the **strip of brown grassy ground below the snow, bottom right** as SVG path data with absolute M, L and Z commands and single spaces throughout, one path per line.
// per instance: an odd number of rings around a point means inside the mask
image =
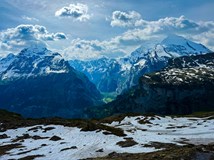
M 152 152 L 152 153 L 111 153 L 106 157 L 102 158 L 88 158 L 87 160 L 196 160 L 197 155 L 213 160 L 214 158 L 214 145 L 207 146 L 171 146 L 167 149 Z M 201 160 L 202 160 L 201 159 Z

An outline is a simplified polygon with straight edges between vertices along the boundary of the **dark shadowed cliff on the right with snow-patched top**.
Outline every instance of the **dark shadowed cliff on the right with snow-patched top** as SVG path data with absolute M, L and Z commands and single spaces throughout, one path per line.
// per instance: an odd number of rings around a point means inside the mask
M 190 114 L 213 111 L 213 94 L 214 53 L 183 56 L 171 59 L 162 71 L 144 75 L 138 86 L 90 114 L 102 117 L 123 112 Z

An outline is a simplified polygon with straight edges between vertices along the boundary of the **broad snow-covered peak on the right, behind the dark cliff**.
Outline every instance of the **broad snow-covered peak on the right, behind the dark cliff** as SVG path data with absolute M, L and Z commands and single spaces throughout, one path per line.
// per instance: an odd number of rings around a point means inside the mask
M 129 59 L 131 63 L 134 63 L 134 61 L 139 60 L 139 58 L 174 58 L 185 55 L 197 55 L 210 52 L 211 51 L 202 44 L 192 42 L 182 36 L 170 34 L 160 43 L 153 43 L 152 45 L 149 43 L 143 44 L 131 53 Z

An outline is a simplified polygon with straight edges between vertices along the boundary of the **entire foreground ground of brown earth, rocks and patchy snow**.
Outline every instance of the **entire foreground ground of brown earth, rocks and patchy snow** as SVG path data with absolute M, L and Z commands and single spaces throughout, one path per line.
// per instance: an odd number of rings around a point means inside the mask
M 201 117 L 120 115 L 103 120 L 1 114 L 1 160 L 214 159 L 213 113 Z

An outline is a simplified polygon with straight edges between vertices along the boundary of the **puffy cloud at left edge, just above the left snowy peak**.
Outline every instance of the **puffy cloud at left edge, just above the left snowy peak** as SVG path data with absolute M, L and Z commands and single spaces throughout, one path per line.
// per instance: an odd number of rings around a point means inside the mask
M 62 39 L 66 39 L 64 33 L 49 33 L 44 26 L 22 24 L 0 32 L 0 49 L 17 51 L 32 44 Z

